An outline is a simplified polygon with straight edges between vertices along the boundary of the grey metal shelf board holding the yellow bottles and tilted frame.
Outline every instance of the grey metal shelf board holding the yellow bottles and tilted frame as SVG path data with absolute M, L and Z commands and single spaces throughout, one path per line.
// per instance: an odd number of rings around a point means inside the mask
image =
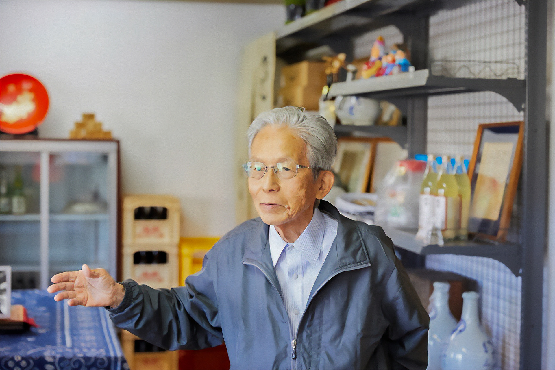
M 400 230 L 382 226 L 393 244 L 404 250 L 422 255 L 453 254 L 476 257 L 488 257 L 503 263 L 515 276 L 522 273 L 521 247 L 514 243 L 491 244 L 480 241 L 456 241 L 443 246 L 426 245 L 416 240 L 416 230 Z

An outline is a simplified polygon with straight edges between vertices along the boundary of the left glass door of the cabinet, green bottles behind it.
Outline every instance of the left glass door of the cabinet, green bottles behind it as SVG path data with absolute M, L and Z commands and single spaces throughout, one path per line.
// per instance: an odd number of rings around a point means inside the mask
M 38 152 L 0 153 L 0 265 L 16 289 L 40 284 L 40 164 Z

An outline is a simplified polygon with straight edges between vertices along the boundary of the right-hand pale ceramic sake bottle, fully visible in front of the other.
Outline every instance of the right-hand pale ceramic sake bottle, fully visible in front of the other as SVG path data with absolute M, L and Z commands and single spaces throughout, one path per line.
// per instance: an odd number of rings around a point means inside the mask
M 462 293 L 462 316 L 442 356 L 444 370 L 493 369 L 493 343 L 478 320 L 478 293 Z

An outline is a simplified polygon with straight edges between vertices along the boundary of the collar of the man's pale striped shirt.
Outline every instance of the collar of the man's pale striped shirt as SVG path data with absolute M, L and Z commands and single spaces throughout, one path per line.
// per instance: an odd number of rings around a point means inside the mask
M 302 231 L 299 239 L 292 243 L 292 245 L 300 252 L 301 256 L 311 265 L 316 262 L 318 256 L 320 255 L 322 242 L 324 242 L 325 229 L 326 220 L 324 219 L 324 215 L 322 215 L 322 212 L 316 208 L 314 209 L 314 215 L 312 215 L 310 224 L 306 226 L 304 231 Z M 281 239 L 281 236 L 279 236 L 279 233 L 275 229 L 274 225 L 270 225 L 269 244 L 272 262 L 275 267 L 278 263 L 281 252 L 289 243 Z

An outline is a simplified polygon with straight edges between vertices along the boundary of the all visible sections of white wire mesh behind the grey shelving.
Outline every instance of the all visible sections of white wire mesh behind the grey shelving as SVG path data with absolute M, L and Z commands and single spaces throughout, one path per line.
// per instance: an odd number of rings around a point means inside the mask
M 460 78 L 524 78 L 524 7 L 512 0 L 471 2 L 430 17 L 433 74 Z M 492 92 L 428 98 L 427 151 L 470 158 L 478 125 L 523 120 L 507 99 Z M 518 241 L 521 194 L 514 202 L 509 240 Z M 516 231 L 516 232 L 515 232 Z M 519 368 L 522 280 L 484 257 L 428 256 L 426 267 L 478 281 L 482 324 L 491 334 L 498 368 Z

